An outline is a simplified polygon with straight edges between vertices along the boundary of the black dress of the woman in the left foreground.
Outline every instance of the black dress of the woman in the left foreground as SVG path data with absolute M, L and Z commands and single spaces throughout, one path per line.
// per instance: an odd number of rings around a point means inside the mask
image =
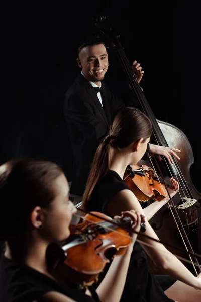
M 94 302 L 83 292 L 64 286 L 27 265 L 1 257 L 0 302 L 33 302 L 49 291 L 57 291 L 79 302 Z

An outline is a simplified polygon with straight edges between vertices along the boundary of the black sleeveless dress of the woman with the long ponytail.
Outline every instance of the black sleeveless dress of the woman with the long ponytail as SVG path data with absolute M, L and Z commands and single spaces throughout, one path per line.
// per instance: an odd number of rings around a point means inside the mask
M 106 204 L 116 193 L 125 189 L 130 190 L 115 171 L 109 170 L 107 175 L 95 186 L 87 204 L 87 210 L 108 215 L 105 211 Z M 170 302 L 172 300 L 164 294 L 164 291 L 175 281 L 168 275 L 154 275 L 143 248 L 136 242 L 121 302 Z

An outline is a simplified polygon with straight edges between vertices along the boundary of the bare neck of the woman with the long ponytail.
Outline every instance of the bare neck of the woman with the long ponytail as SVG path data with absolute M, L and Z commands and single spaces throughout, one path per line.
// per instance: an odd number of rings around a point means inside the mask
M 124 152 L 117 153 L 115 150 L 112 150 L 111 158 L 110 169 L 117 172 L 123 179 L 126 167 L 130 165 L 130 156 Z

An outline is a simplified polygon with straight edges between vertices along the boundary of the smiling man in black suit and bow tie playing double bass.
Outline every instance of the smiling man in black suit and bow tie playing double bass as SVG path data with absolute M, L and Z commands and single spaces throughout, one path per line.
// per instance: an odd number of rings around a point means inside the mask
M 77 64 L 81 72 L 66 93 L 64 114 L 74 156 L 70 193 L 82 196 L 96 149 L 107 135 L 115 115 L 125 104 L 112 95 L 102 82 L 109 66 L 106 46 L 102 41 L 93 39 L 81 44 Z M 132 68 L 140 82 L 144 71 L 136 61 Z M 169 161 L 171 155 L 178 158 L 175 152 L 179 150 L 152 144 L 149 147 L 150 152 L 164 155 Z

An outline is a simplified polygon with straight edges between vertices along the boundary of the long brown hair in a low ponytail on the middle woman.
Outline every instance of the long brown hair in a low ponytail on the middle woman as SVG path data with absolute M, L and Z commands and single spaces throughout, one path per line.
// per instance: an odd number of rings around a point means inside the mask
M 91 198 L 95 185 L 110 169 L 110 148 L 125 148 L 140 138 L 146 140 L 151 134 L 151 122 L 140 110 L 127 107 L 116 115 L 109 130 L 109 135 L 106 136 L 96 150 L 83 195 L 82 207 L 84 209 L 87 208 L 87 202 Z

